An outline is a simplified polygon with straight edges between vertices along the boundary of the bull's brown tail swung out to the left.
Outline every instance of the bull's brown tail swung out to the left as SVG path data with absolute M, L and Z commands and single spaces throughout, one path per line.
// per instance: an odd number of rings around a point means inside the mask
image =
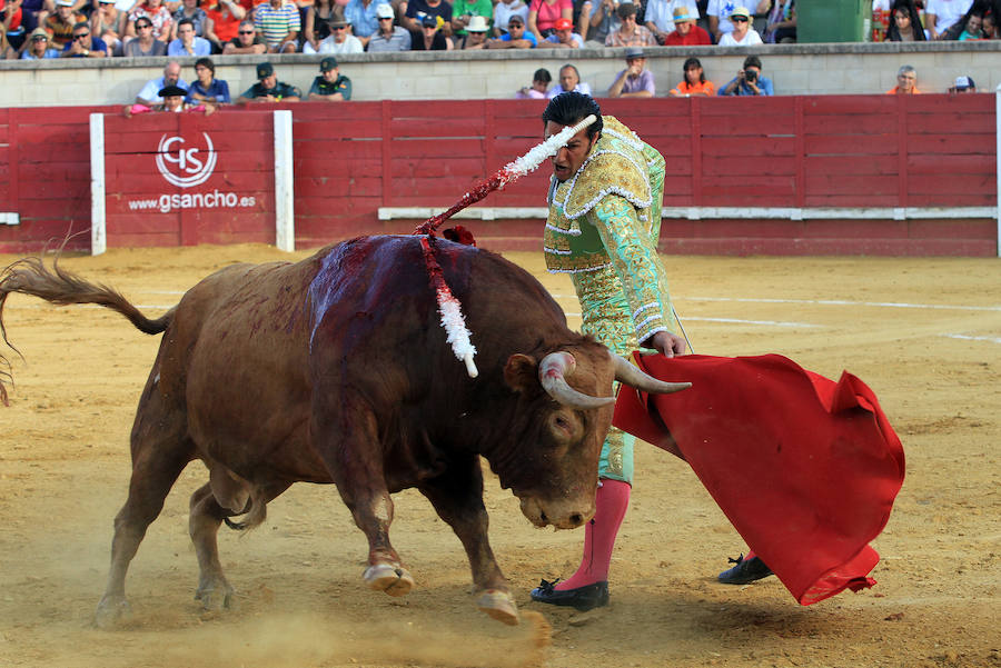
M 91 283 L 79 276 L 59 267 L 58 260 L 52 268 L 46 267 L 41 258 L 24 258 L 0 271 L 0 336 L 3 342 L 17 351 L 7 338 L 3 325 L 3 307 L 7 297 L 14 292 L 32 295 L 59 306 L 70 303 L 97 303 L 118 311 L 139 331 L 156 335 L 167 329 L 174 319 L 175 309 L 170 309 L 156 320 L 150 320 L 132 306 L 118 290 L 102 285 Z M 7 401 L 7 389 L 3 380 L 11 379 L 10 363 L 0 355 L 0 401 Z

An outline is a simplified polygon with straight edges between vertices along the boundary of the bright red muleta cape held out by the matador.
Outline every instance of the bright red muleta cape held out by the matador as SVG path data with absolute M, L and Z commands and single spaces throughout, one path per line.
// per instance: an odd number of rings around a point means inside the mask
M 869 546 L 903 485 L 904 455 L 869 387 L 780 355 L 634 353 L 673 395 L 623 386 L 613 425 L 682 457 L 804 606 L 875 585 Z

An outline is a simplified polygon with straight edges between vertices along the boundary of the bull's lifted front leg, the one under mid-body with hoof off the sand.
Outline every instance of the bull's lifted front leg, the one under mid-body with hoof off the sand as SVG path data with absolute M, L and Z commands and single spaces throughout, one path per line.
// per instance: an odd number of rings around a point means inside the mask
M 357 403 L 357 402 L 356 402 Z M 355 525 L 368 539 L 368 568 L 363 578 L 371 589 L 389 596 L 406 596 L 414 587 L 414 578 L 403 567 L 399 555 L 389 542 L 393 524 L 393 499 L 386 488 L 383 459 L 376 443 L 374 416 L 356 406 L 345 411 L 353 416 L 350 425 L 339 423 L 319 433 L 344 433 L 340 442 L 321 449 L 337 491 L 351 511 Z

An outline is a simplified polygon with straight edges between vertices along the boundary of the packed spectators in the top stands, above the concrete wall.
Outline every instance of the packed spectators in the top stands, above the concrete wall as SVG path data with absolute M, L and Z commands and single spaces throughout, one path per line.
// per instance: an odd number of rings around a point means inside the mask
M 872 4 L 874 40 L 999 39 L 1001 0 Z M 796 0 L 0 0 L 0 20 L 8 59 L 796 41 Z

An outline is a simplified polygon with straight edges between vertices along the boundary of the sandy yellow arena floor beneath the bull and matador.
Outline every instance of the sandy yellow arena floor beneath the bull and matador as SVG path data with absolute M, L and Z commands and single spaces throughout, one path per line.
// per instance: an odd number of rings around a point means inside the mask
M 219 267 L 286 257 L 238 246 L 63 262 L 158 315 Z M 576 326 L 569 281 L 546 275 L 541 253 L 511 258 Z M 779 352 L 829 377 L 848 369 L 879 395 L 908 478 L 874 544 L 875 588 L 803 608 L 775 578 L 718 585 L 743 542 L 683 462 L 641 447 L 607 608 L 529 601 L 539 578 L 573 571 L 583 532 L 534 529 L 488 478 L 494 549 L 523 612 L 536 612 L 521 627 L 475 611 L 458 540 L 416 492 L 398 495 L 393 537 L 418 588 L 404 599 L 365 589 L 360 531 L 333 488 L 306 485 L 274 501 L 257 531 L 222 529 L 237 606 L 206 618 L 187 535 L 188 496 L 205 472 L 191 465 L 132 562 L 132 621 L 92 629 L 132 411 L 159 338 L 96 307 L 16 296 L 6 325 L 23 359 L 9 356 L 16 387 L 0 408 L 0 666 L 1001 666 L 1001 261 L 665 260 L 698 352 Z M 552 646 L 539 649 L 547 624 Z

